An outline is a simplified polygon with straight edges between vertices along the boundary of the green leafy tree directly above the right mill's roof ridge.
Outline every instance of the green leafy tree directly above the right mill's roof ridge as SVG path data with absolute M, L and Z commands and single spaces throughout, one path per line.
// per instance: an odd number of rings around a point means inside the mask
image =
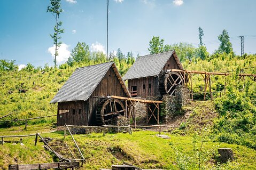
M 149 42 L 149 48 L 150 54 L 156 54 L 164 51 L 164 39 L 161 39 L 159 37 L 153 36 L 153 38 Z

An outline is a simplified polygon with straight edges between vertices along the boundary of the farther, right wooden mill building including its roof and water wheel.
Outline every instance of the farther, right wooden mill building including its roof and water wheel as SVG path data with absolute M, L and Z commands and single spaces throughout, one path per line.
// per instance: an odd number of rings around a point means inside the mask
M 174 50 L 137 58 L 123 79 L 128 80 L 132 97 L 173 95 L 183 78 L 171 69 L 183 70 Z

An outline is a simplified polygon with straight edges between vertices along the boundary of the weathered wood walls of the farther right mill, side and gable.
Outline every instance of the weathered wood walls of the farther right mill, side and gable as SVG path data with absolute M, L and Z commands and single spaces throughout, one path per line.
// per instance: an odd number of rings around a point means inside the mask
M 137 86 L 138 97 L 145 98 L 147 96 L 160 96 L 158 88 L 159 77 L 161 74 L 164 74 L 169 69 L 180 69 L 173 55 L 166 62 L 165 66 L 162 68 L 158 76 L 142 77 L 128 80 L 128 90 L 131 92 L 131 87 Z M 149 88 L 149 84 L 151 84 L 151 88 Z M 145 88 L 143 88 L 143 85 L 145 85 Z

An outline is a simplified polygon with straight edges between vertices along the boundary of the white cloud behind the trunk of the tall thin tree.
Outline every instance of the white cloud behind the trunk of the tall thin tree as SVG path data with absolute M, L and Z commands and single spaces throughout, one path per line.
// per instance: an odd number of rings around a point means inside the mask
M 55 45 L 52 45 L 51 47 L 48 48 L 48 52 L 51 53 L 52 58 L 55 58 Z M 71 52 L 68 50 L 68 45 L 63 43 L 60 45 L 58 49 L 58 54 L 56 58 L 57 63 L 64 63 L 65 61 L 68 60 Z

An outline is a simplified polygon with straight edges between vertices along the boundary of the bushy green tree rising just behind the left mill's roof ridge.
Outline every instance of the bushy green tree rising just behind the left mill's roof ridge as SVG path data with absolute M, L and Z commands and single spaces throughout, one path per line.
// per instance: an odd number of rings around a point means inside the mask
M 89 61 L 90 57 L 90 51 L 89 51 L 89 45 L 86 43 L 78 42 L 74 48 L 74 50 L 71 51 L 72 60 L 76 62 Z

